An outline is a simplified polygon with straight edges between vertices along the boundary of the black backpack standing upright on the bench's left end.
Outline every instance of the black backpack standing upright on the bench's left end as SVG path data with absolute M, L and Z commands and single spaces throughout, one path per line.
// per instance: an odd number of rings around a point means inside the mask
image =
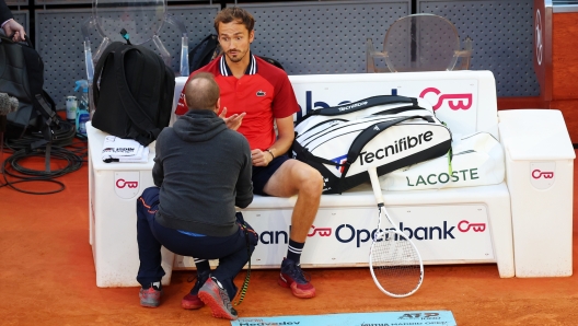
M 153 50 L 114 42 L 94 69 L 92 126 L 148 145 L 169 126 L 174 88 L 173 70 Z

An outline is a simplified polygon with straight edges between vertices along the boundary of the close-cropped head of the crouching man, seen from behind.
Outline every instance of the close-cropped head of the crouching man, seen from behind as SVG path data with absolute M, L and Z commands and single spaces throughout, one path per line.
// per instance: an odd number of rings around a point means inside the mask
M 188 109 L 219 108 L 219 85 L 208 72 L 199 72 L 185 85 L 185 103 Z

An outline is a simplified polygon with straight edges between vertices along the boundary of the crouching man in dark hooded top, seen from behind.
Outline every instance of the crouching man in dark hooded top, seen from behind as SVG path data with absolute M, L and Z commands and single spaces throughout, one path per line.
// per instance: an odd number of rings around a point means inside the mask
M 235 217 L 235 206 L 253 201 L 248 142 L 217 115 L 219 86 L 199 73 L 185 85 L 188 112 L 157 139 L 152 177 L 137 201 L 140 304 L 161 302 L 161 246 L 195 257 L 197 281 L 182 300 L 184 308 L 209 305 L 215 317 L 236 319 L 233 280 L 248 261 L 257 237 Z M 219 259 L 211 271 L 207 259 Z

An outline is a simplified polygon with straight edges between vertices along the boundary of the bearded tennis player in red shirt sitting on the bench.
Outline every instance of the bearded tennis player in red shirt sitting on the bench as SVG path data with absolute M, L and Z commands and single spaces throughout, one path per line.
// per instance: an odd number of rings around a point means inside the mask
M 315 296 L 315 288 L 301 270 L 301 253 L 317 214 L 323 177 L 315 168 L 289 159 L 293 114 L 299 110 L 287 73 L 253 55 L 255 19 L 242 8 L 226 8 L 215 18 L 223 55 L 192 73 L 215 75 L 221 89 L 222 116 L 227 125 L 246 137 L 253 163 L 253 191 L 262 196 L 291 197 L 291 234 L 277 282 L 297 298 Z M 176 114 L 184 114 L 183 94 Z M 275 130 L 277 127 L 277 132 Z

